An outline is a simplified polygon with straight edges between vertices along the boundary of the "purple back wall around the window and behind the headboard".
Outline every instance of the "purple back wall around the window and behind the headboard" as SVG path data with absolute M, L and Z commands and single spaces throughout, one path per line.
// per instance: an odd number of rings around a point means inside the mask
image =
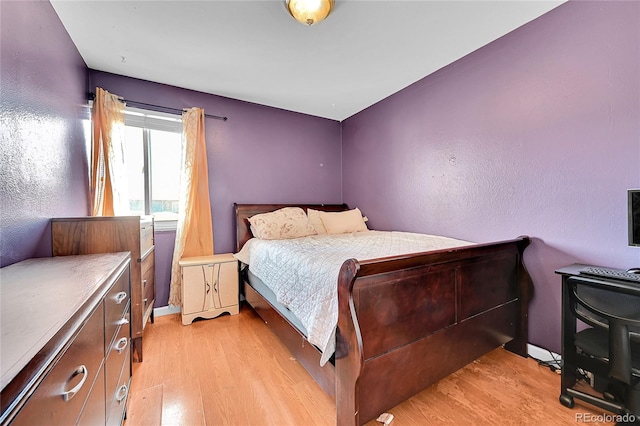
M 216 253 L 235 250 L 233 203 L 341 202 L 340 123 L 187 89 L 90 71 L 90 87 L 172 108 L 201 107 Z M 175 232 L 156 234 L 156 306 L 165 306 Z

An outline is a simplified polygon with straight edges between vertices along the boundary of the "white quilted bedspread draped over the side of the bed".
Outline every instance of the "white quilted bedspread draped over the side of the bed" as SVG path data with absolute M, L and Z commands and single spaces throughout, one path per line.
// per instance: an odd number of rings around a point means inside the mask
M 338 273 L 345 260 L 376 259 L 468 246 L 468 241 L 396 231 L 313 235 L 290 240 L 252 238 L 235 255 L 300 319 L 324 365 L 335 351 Z

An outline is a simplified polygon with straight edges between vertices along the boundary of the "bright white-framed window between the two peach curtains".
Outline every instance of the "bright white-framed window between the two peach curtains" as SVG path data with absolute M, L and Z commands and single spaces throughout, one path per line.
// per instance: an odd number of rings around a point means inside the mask
M 127 107 L 125 138 L 130 214 L 153 215 L 156 229 L 176 229 L 182 118 Z

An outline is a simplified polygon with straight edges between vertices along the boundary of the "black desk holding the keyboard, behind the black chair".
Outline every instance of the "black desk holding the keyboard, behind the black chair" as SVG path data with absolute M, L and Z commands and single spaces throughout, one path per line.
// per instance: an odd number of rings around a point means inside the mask
M 555 271 L 562 275 L 562 382 L 560 402 L 572 408 L 574 405 L 573 398 L 579 398 L 601 408 L 607 409 L 615 413 L 621 413 L 622 409 L 619 404 L 605 401 L 604 399 L 595 397 L 591 394 L 574 389 L 578 379 L 582 376 L 578 373 L 578 365 L 586 371 L 597 371 L 594 365 L 592 370 L 589 366 L 593 365 L 593 359 L 582 354 L 578 354 L 575 346 L 576 336 L 576 317 L 571 310 L 569 301 L 570 284 L 568 279 L 573 277 L 581 282 L 611 292 L 612 300 L 618 298 L 621 302 L 629 299 L 627 295 L 631 295 L 631 299 L 640 297 L 640 283 L 631 281 L 618 280 L 613 278 L 595 277 L 591 275 L 580 274 L 580 270 L 592 265 L 573 264 L 565 266 Z M 640 312 L 640 306 L 638 306 Z M 597 388 L 597 386 L 596 386 Z

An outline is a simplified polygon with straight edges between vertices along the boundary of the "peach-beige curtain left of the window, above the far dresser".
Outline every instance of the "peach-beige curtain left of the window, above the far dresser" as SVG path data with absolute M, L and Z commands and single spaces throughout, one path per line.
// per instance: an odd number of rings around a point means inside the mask
M 99 87 L 93 102 L 91 214 L 114 216 L 128 211 L 124 166 L 124 102 Z

